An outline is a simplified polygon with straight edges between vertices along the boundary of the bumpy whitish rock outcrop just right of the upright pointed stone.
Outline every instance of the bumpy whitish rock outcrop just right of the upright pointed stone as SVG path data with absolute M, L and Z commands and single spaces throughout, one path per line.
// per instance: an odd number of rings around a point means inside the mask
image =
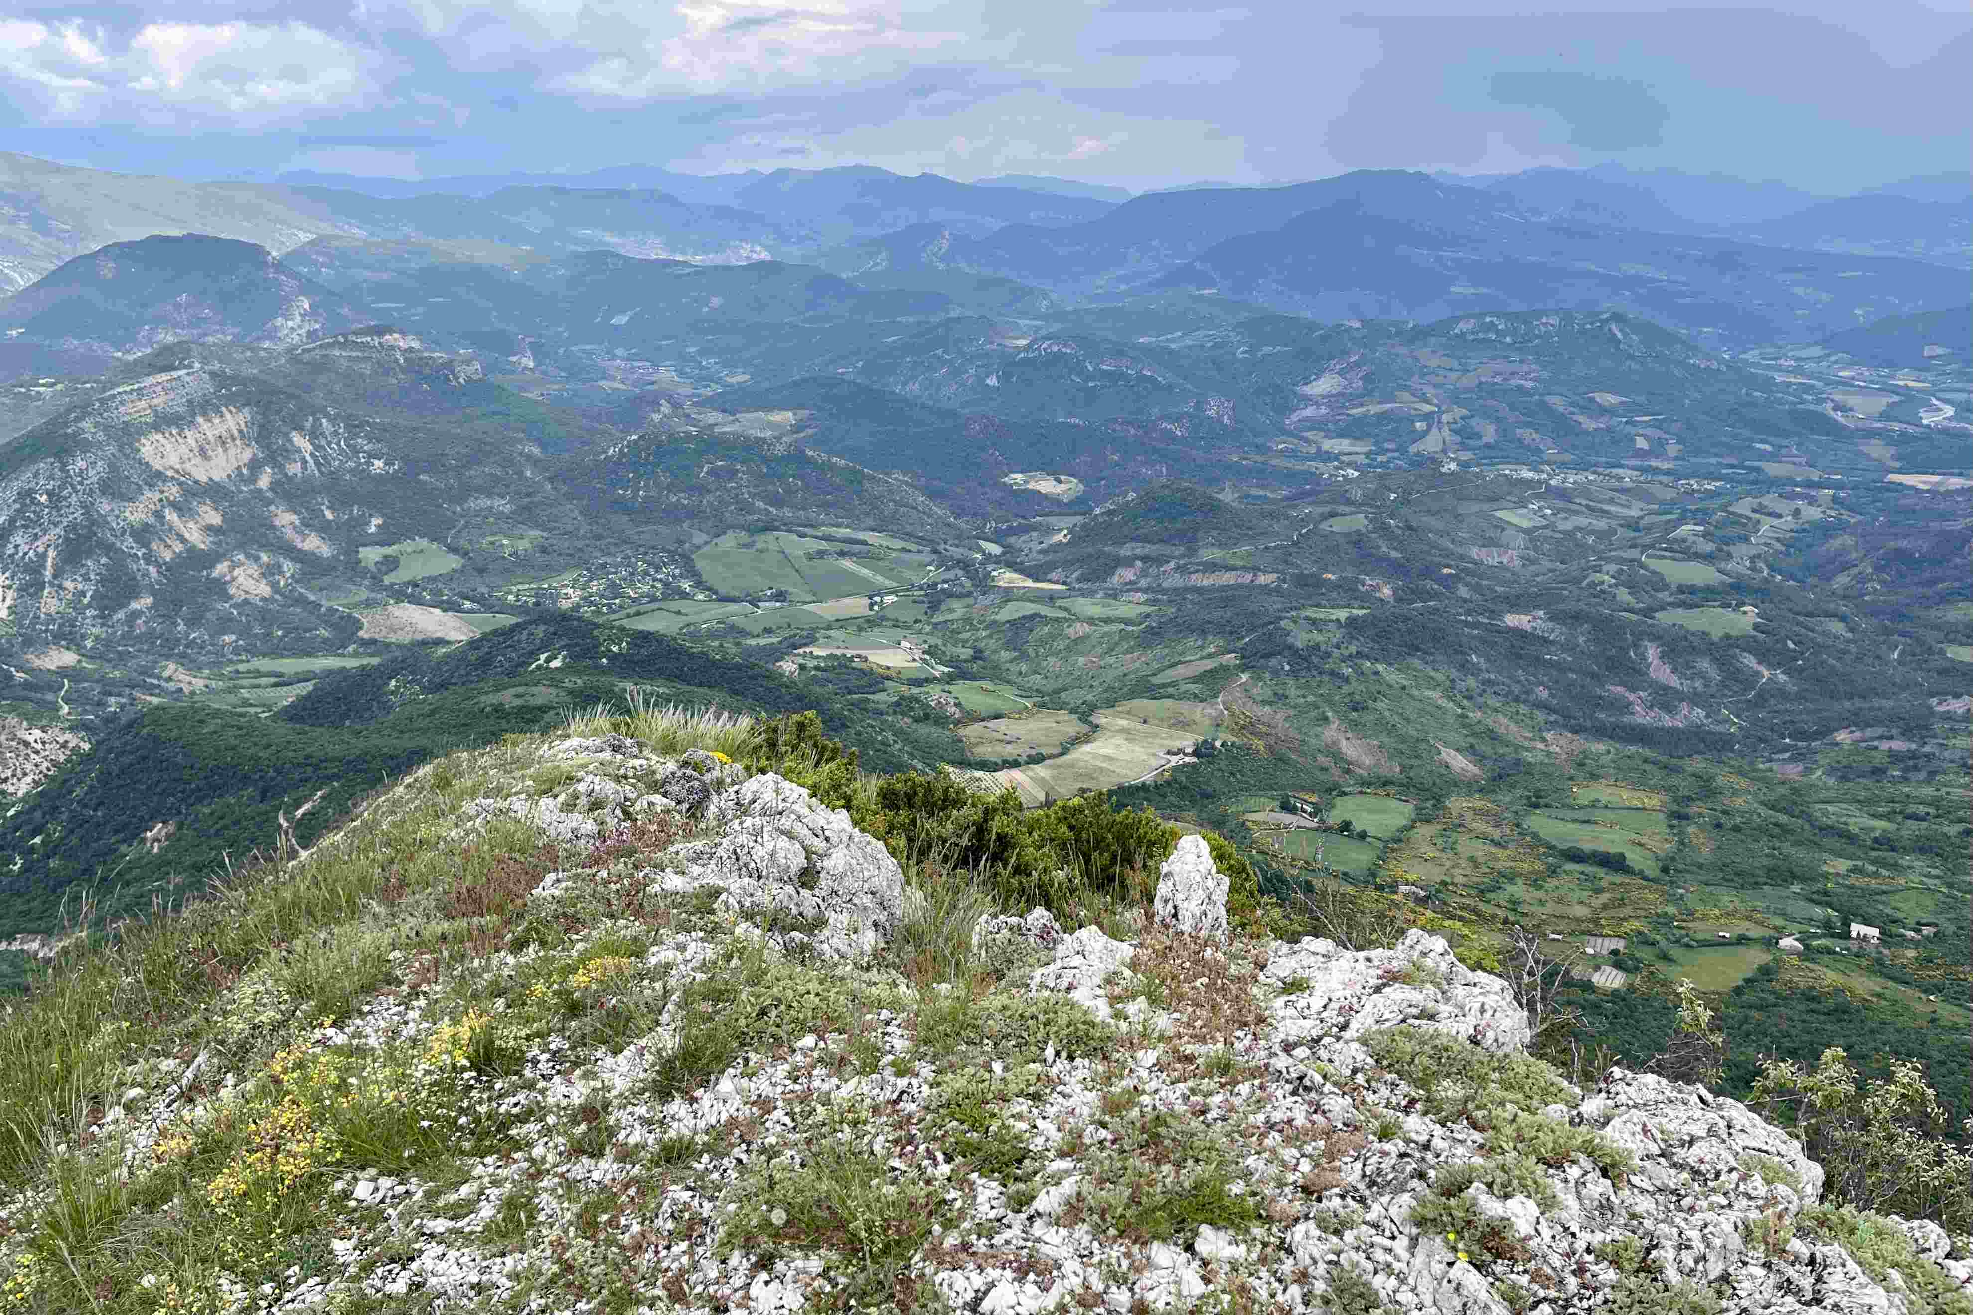
M 1507 984 L 1462 964 L 1444 936 L 1409 931 L 1389 950 L 1344 950 L 1334 940 L 1275 942 L 1263 980 L 1284 992 L 1269 1009 L 1282 1041 L 1355 1041 L 1411 1025 L 1486 1051 L 1525 1049 L 1527 1013 Z

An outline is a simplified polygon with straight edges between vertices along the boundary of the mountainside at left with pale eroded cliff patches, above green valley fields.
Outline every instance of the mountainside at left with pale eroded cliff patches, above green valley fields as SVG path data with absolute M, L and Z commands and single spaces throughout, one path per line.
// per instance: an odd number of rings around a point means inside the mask
M 110 388 L 10 455 L 0 605 L 24 645 L 328 639 L 339 619 L 302 582 L 401 519 L 377 499 L 375 477 L 401 475 L 377 422 L 197 365 Z

